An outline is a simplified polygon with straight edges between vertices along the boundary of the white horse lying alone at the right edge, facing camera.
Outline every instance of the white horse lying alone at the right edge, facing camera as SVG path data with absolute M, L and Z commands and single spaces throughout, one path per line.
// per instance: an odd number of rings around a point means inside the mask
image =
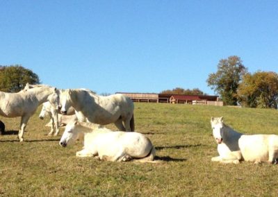
M 240 160 L 277 164 L 278 135 L 243 135 L 223 123 L 223 117 L 211 117 L 213 137 L 220 156 L 213 162 L 238 164 Z

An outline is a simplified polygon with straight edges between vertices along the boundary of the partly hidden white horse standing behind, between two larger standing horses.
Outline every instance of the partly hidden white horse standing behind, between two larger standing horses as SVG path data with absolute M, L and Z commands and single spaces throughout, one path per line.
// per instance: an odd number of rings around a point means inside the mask
M 67 122 L 76 119 L 74 108 L 69 109 L 69 112 L 67 113 L 68 115 L 62 115 L 60 114 L 60 110 L 56 110 L 56 108 L 49 102 L 42 103 L 42 110 L 40 111 L 39 118 L 44 119 L 46 114 L 48 114 L 50 117 L 50 121 L 47 123 L 47 126 L 50 126 L 51 128 L 48 134 L 49 136 L 57 136 L 60 132 L 60 126 L 64 126 L 67 124 Z M 56 129 L 55 133 L 54 128 Z

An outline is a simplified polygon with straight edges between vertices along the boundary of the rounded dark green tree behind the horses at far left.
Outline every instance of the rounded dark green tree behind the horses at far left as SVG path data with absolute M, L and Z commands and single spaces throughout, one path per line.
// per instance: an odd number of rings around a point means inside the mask
M 40 78 L 21 65 L 0 66 L 0 91 L 19 92 L 26 83 L 40 84 Z

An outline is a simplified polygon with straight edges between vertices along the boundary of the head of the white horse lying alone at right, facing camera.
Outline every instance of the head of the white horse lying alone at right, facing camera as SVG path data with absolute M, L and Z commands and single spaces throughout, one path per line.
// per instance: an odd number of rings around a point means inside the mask
M 224 135 L 223 117 L 211 117 L 211 128 L 213 129 L 213 137 L 216 142 L 221 144 Z

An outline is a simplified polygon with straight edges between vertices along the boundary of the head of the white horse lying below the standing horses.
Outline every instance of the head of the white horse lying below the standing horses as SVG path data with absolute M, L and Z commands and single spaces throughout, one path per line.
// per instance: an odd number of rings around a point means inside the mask
M 65 131 L 60 138 L 60 146 L 67 146 L 67 144 L 70 144 L 74 142 L 76 139 L 79 139 L 79 130 L 76 128 L 78 124 L 78 121 L 72 121 L 70 123 L 67 123 L 67 126 L 65 127 Z

